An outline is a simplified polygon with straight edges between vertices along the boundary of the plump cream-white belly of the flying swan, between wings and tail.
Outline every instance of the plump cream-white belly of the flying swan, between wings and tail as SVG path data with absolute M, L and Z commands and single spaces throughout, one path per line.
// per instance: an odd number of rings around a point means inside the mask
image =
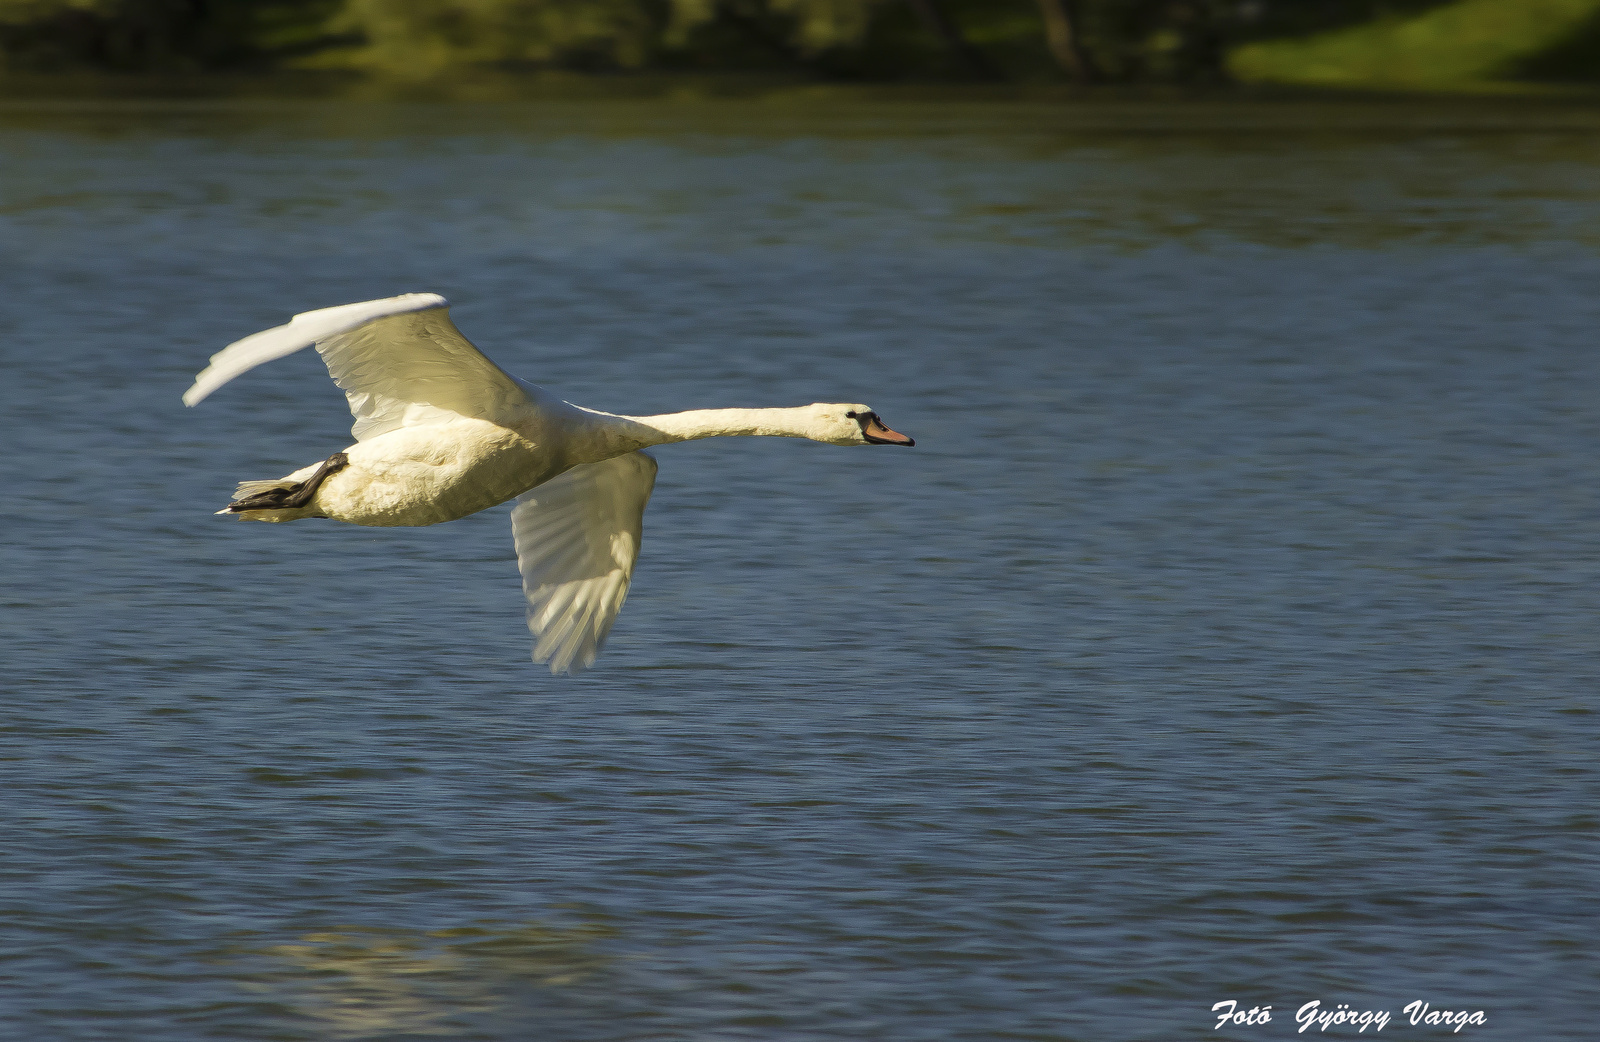
M 352 525 L 437 525 L 520 496 L 562 464 L 485 419 L 397 427 L 346 450 L 314 509 Z

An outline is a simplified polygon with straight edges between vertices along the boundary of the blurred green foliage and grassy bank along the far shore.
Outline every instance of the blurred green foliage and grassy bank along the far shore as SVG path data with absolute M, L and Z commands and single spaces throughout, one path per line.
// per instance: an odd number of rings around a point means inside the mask
M 0 62 L 1451 88 L 1600 80 L 1600 0 L 0 0 Z

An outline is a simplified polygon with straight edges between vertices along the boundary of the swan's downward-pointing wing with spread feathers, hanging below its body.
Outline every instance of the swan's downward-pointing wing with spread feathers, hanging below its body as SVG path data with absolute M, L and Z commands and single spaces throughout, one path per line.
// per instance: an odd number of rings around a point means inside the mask
M 594 664 L 627 600 L 656 461 L 587 463 L 523 493 L 510 512 L 533 661 L 550 672 Z

